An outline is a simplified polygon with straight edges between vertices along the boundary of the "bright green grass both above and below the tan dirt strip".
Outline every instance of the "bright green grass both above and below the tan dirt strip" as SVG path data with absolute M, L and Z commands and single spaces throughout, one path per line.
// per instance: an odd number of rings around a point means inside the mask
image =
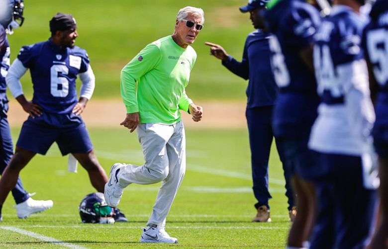
M 249 14 L 238 7 L 246 0 L 25 0 L 25 23 L 8 36 L 11 60 L 19 48 L 50 36 L 48 23 L 57 12 L 77 19 L 77 45 L 87 49 L 96 74 L 94 100 L 119 98 L 119 74 L 123 66 L 146 44 L 173 33 L 175 16 L 186 5 L 203 8 L 204 29 L 194 49 L 197 61 L 188 95 L 195 101 L 245 101 L 247 82 L 228 72 L 209 56 L 205 41 L 221 44 L 242 57 L 245 38 L 253 31 Z M 27 74 L 28 75 L 28 74 Z M 29 76 L 23 89 L 31 95 Z M 221 112 L 222 104 L 220 104 Z M 233 117 L 231 117 L 233 118 Z M 19 127 L 19 126 L 18 126 Z M 18 129 L 13 129 L 14 141 Z M 108 172 L 116 162 L 141 165 L 143 155 L 135 134 L 125 129 L 89 129 L 97 157 Z M 36 156 L 21 172 L 23 184 L 35 199 L 52 199 L 54 207 L 26 220 L 16 217 L 11 195 L 3 207 L 0 247 L 5 248 L 284 248 L 291 223 L 284 195 L 283 171 L 275 146 L 270 159 L 272 223 L 251 223 L 255 215 L 250 152 L 246 129 L 188 129 L 187 172 L 167 217 L 167 232 L 178 245 L 138 243 L 141 227 L 151 213 L 159 184 L 131 185 L 125 189 L 119 208 L 129 223 L 82 224 L 78 205 L 95 190 L 87 173 L 69 173 L 67 157 L 56 145 L 47 156 Z M 50 242 L 51 241 L 51 242 Z M 59 243 L 59 244 L 56 244 Z

